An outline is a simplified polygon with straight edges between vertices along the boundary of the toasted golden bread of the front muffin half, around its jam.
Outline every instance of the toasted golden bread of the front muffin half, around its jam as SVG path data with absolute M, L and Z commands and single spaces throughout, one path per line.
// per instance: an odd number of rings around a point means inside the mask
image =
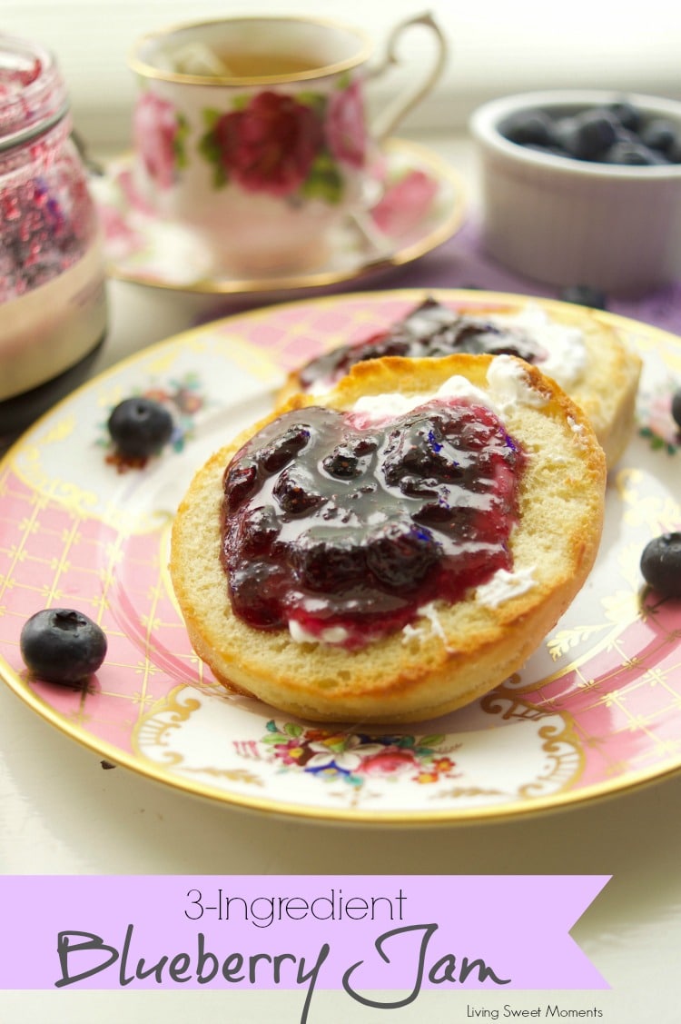
M 216 452 L 196 474 L 173 523 L 170 572 L 189 639 L 218 681 L 313 721 L 400 723 L 434 718 L 516 672 L 582 588 L 603 523 L 605 457 L 588 417 L 539 370 L 510 356 L 528 400 L 504 408 L 524 450 L 518 521 L 511 535 L 519 592 L 482 601 L 471 589 L 437 600 L 414 623 L 357 649 L 260 630 L 232 610 L 220 560 L 223 475 L 232 456 L 282 410 Z M 385 358 L 357 364 L 323 400 L 298 394 L 288 409 L 349 411 L 357 398 L 430 395 L 455 376 L 490 391 L 494 357 Z

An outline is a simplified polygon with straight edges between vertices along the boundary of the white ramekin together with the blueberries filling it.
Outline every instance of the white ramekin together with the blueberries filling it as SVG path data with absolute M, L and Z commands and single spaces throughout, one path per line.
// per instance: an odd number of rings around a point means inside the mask
M 679 279 L 681 101 L 524 93 L 482 104 L 470 131 L 493 258 L 541 284 L 613 296 Z

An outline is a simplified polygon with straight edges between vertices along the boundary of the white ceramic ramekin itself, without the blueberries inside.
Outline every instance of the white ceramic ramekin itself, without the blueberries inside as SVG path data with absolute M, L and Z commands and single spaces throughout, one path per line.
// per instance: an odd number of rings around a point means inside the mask
M 543 284 L 609 293 L 642 293 L 681 276 L 680 164 L 588 163 L 524 147 L 499 130 L 520 111 L 570 115 L 623 98 L 681 130 L 681 102 L 600 90 L 506 96 L 473 113 L 482 244 L 493 258 Z

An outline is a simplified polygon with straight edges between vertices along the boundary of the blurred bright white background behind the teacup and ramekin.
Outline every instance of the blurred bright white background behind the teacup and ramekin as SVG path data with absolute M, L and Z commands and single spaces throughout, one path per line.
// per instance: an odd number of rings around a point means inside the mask
M 135 85 L 127 55 L 150 30 L 230 14 L 310 13 L 364 28 L 380 58 L 390 27 L 424 10 L 444 31 L 451 58 L 408 128 L 456 132 L 481 100 L 525 89 L 681 96 L 681 8 L 669 0 L 0 0 L 0 28 L 54 51 L 77 127 L 93 147 L 113 150 L 129 140 Z M 406 74 L 418 74 L 429 49 L 424 30 L 403 39 Z

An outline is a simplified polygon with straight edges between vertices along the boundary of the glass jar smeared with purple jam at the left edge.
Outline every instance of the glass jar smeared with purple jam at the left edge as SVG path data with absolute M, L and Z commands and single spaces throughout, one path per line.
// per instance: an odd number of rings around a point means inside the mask
M 107 329 L 87 173 L 54 58 L 0 35 L 0 449 L 86 376 Z

